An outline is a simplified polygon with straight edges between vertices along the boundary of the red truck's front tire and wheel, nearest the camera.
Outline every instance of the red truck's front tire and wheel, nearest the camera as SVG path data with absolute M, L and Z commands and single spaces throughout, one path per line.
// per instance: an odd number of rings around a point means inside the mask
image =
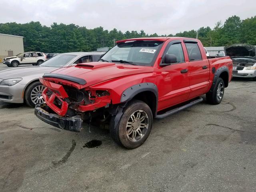
M 142 101 L 132 100 L 129 102 L 116 127 L 114 126 L 114 118 L 115 116 L 110 122 L 110 135 L 117 144 L 124 148 L 134 149 L 141 146 L 151 132 L 152 111 Z

